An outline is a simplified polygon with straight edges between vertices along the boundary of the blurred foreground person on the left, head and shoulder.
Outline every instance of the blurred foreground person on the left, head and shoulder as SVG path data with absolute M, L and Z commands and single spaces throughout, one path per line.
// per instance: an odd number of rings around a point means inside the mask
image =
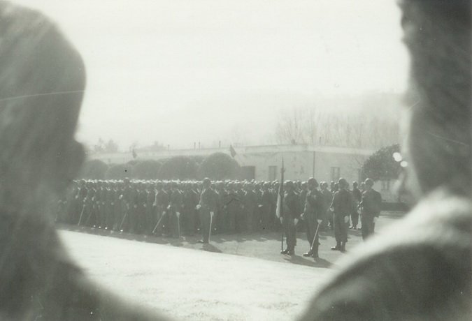
M 80 54 L 41 13 L 5 1 L 0 38 L 0 319 L 162 319 L 90 281 L 53 224 L 51 200 L 85 155 Z

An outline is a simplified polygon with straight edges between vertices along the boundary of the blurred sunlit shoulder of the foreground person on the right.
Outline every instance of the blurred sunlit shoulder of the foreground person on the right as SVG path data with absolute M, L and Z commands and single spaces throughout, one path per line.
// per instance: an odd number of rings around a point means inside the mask
M 345 257 L 302 320 L 467 320 L 472 203 L 437 191 Z

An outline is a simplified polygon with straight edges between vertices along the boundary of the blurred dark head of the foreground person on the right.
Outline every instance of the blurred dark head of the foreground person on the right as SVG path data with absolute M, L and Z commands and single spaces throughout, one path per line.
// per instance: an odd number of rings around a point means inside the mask
M 470 0 L 401 1 L 410 51 L 405 187 L 415 200 L 438 187 L 471 195 Z

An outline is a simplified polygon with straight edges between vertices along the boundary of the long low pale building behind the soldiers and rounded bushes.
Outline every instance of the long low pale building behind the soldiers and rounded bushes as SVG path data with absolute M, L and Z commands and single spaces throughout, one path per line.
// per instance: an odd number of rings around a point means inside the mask
M 234 147 L 234 159 L 241 165 L 243 179 L 273 181 L 280 178 L 282 162 L 285 179 L 305 181 L 315 177 L 318 181 L 337 181 L 344 177 L 349 182 L 359 181 L 364 161 L 373 154 L 368 149 L 301 145 L 269 145 Z M 164 159 L 173 156 L 208 156 L 213 153 L 231 154 L 229 148 L 170 149 L 164 151 L 136 151 L 136 159 Z M 127 163 L 133 160 L 131 152 L 92 154 L 108 164 Z

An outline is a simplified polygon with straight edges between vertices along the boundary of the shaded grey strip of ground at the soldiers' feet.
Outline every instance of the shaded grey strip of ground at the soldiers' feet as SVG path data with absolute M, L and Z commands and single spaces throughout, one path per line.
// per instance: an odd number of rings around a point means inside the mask
M 378 221 L 379 230 L 401 218 L 399 215 L 381 215 Z M 73 232 L 82 232 L 87 234 L 101 235 L 103 237 L 116 237 L 130 241 L 141 241 L 152 244 L 162 244 L 194 249 L 197 251 L 207 251 L 212 253 L 225 253 L 230 255 L 239 255 L 245 257 L 257 257 L 262 260 L 271 260 L 276 262 L 298 264 L 306 267 L 327 268 L 331 267 L 333 262 L 343 254 L 339 251 L 331 251 L 331 246 L 336 245 L 333 230 L 320 231 L 319 255 L 321 258 L 302 257 L 301 253 L 308 252 L 310 244 L 306 239 L 306 233 L 297 232 L 296 253 L 299 255 L 281 255 L 280 246 L 286 247 L 285 238 L 281 231 L 257 231 L 241 234 L 212 234 L 210 244 L 201 244 L 200 234 L 186 235 L 183 237 L 166 237 L 165 235 L 142 235 L 131 234 L 127 232 L 117 232 L 113 230 L 104 230 L 97 227 L 83 227 L 78 225 L 57 224 L 60 230 L 69 230 Z M 376 226 L 377 227 L 377 226 Z M 376 229 L 377 230 L 377 229 Z M 348 230 L 348 251 L 355 246 L 362 244 L 361 230 Z

